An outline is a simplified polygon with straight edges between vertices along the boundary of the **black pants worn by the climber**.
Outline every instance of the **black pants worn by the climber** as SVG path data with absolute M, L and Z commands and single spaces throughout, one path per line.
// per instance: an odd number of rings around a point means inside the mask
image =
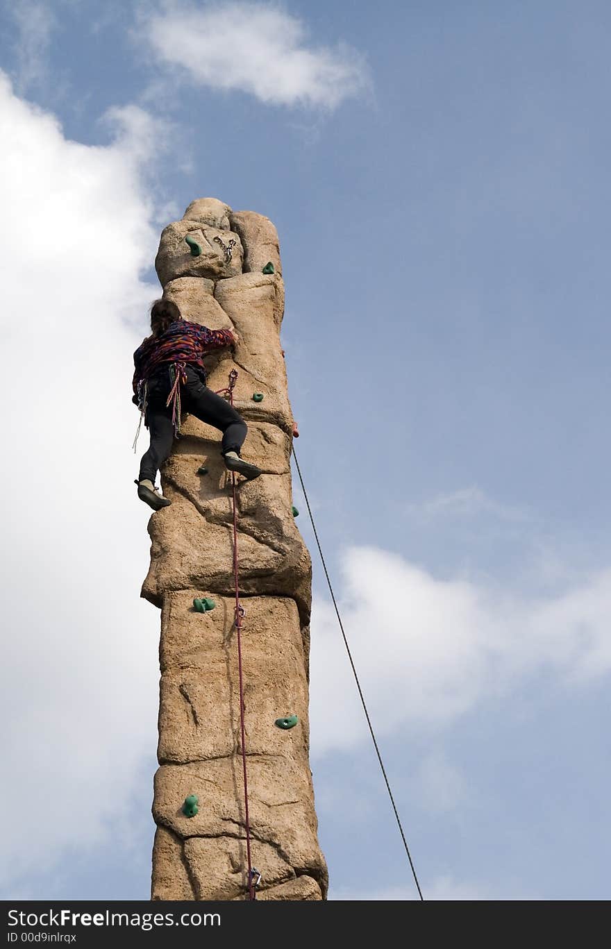
M 151 434 L 151 444 L 140 461 L 139 481 L 148 478 L 155 484 L 158 469 L 172 451 L 172 403 L 167 408 L 165 404 L 171 388 L 169 367 L 160 370 L 149 380 L 145 421 Z M 248 431 L 246 422 L 228 401 L 206 386 L 192 365 L 187 366 L 186 383 L 180 385 L 180 401 L 183 412 L 191 413 L 196 419 L 213 425 L 223 433 L 222 455 L 226 452 L 240 454 Z

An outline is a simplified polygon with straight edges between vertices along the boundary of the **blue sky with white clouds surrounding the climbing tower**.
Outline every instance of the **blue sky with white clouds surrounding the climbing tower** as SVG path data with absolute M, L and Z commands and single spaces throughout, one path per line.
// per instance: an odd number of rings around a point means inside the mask
M 158 233 L 213 195 L 280 234 L 296 449 L 425 898 L 609 899 L 610 27 L 1 5 L 4 898 L 148 897 L 131 359 Z M 414 899 L 294 494 L 330 895 Z

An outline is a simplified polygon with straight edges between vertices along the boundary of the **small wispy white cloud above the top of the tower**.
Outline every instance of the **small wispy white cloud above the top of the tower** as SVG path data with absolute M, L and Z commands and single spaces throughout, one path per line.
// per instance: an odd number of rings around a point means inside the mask
M 273 105 L 333 109 L 368 82 L 358 52 L 307 46 L 303 21 L 270 3 L 169 0 L 143 9 L 139 37 L 175 78 L 182 70 L 194 84 L 239 89 Z

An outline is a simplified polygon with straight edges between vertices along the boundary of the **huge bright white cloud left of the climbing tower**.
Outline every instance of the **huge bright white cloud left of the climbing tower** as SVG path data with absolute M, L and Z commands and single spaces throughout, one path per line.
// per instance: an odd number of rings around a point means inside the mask
M 0 73 L 0 880 L 11 887 L 103 839 L 157 740 L 159 621 L 139 600 L 148 512 L 130 451 L 132 353 L 157 294 L 138 276 L 157 246 L 140 173 L 152 125 L 133 108 L 114 120 L 106 147 L 66 140 Z

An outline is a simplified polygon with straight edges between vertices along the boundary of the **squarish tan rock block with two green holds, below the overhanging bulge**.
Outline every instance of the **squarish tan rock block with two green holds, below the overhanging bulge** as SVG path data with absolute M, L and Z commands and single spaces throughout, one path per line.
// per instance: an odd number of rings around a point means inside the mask
M 237 655 L 233 601 L 216 597 L 210 613 L 196 613 L 185 590 L 166 597 L 161 619 L 161 698 L 158 758 L 185 763 L 228 757 L 240 751 L 239 703 L 235 700 Z M 288 597 L 245 597 L 243 666 L 248 682 L 245 725 L 249 754 L 287 757 L 307 768 L 307 681 L 299 612 Z M 215 709 L 226 714 L 215 716 Z M 278 717 L 297 715 L 289 731 Z

